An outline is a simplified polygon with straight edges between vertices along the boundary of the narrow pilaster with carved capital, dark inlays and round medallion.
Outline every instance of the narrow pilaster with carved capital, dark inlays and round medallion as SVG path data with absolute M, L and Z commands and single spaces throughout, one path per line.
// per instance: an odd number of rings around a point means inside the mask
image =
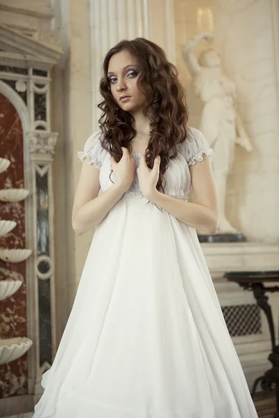
M 40 381 L 54 359 L 56 344 L 55 268 L 54 268 L 54 196 L 52 162 L 58 135 L 56 132 L 33 130 L 28 133 L 31 155 L 33 187 L 34 236 L 33 267 L 35 283 L 29 295 L 34 303 L 29 318 L 32 333 L 36 336 L 32 369 L 35 371 L 33 394 L 42 394 Z

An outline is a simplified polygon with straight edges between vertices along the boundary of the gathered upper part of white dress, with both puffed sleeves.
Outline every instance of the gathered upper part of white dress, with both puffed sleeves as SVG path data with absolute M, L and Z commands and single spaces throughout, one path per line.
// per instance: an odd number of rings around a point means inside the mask
M 101 132 L 94 132 L 87 139 L 84 150 L 78 153 L 80 160 L 84 160 L 89 164 L 94 164 L 100 169 L 100 189 L 102 192 L 112 187 L 114 184 L 114 173 L 111 173 L 110 153 L 105 150 L 100 143 Z M 169 160 L 169 167 L 165 171 L 164 177 L 166 181 L 165 194 L 176 197 L 177 199 L 188 200 L 190 191 L 190 164 L 202 161 L 203 154 L 211 156 L 213 150 L 209 148 L 204 135 L 199 130 L 189 127 L 186 141 L 179 144 L 179 152 L 174 160 Z M 132 154 L 135 164 L 140 164 L 140 153 Z M 130 189 L 126 192 L 126 197 L 142 198 L 140 185 L 135 170 L 135 177 Z

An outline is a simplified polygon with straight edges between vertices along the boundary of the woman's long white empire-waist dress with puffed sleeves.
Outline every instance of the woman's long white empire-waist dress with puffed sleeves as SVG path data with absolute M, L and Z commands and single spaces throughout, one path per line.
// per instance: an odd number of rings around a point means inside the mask
M 187 200 L 211 153 L 189 128 L 165 193 Z M 100 132 L 79 156 L 112 186 Z M 195 229 L 146 202 L 135 173 L 98 225 L 33 418 L 257 418 Z

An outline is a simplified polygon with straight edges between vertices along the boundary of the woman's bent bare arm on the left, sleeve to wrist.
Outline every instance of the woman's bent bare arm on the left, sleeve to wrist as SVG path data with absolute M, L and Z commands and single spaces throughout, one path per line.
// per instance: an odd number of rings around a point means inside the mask
M 122 187 L 113 185 L 98 196 L 99 174 L 100 170 L 96 169 L 93 164 L 89 165 L 86 161 L 82 163 L 72 213 L 73 229 L 77 235 L 95 228 L 125 192 Z

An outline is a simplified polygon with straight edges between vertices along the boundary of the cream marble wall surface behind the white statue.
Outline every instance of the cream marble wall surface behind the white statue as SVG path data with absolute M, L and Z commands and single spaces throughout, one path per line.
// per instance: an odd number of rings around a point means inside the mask
M 277 4 L 277 3 L 276 3 Z M 252 140 L 251 154 L 236 148 L 228 178 L 229 220 L 251 240 L 279 241 L 279 124 L 276 25 L 272 0 L 174 0 L 176 63 L 188 93 L 190 124 L 199 127 L 195 97 L 181 46 L 213 31 L 227 75 L 236 84 L 237 107 Z M 204 49 L 200 45 L 197 49 Z

